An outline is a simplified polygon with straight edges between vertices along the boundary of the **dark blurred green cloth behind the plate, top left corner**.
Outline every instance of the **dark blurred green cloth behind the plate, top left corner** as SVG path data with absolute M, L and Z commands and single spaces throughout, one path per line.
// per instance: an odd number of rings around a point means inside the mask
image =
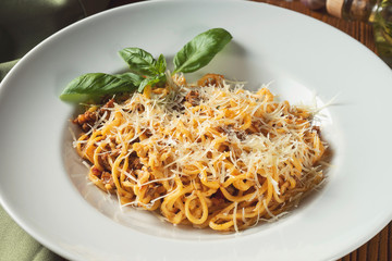
M 100 12 L 109 0 L 1 0 L 0 63 L 16 60 L 59 29 Z

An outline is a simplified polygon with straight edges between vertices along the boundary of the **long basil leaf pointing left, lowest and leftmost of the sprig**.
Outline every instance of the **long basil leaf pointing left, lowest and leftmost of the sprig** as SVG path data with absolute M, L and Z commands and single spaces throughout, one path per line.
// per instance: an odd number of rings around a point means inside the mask
M 131 92 L 137 89 L 142 77 L 132 73 L 110 75 L 89 73 L 73 79 L 60 95 L 64 101 L 84 101 L 97 99 L 103 95 Z

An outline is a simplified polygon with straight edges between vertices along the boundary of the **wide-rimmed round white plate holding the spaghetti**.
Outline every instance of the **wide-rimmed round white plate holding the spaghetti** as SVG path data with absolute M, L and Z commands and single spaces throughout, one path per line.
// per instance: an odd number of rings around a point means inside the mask
M 336 96 L 323 111 L 334 150 L 326 186 L 284 219 L 240 234 L 121 212 L 87 185 L 87 170 L 70 147 L 75 107 L 58 98 L 81 74 L 125 70 L 117 54 L 122 48 L 171 59 L 211 27 L 226 28 L 234 39 L 201 73 L 246 79 L 249 88 L 273 80 L 272 91 L 293 102 Z M 333 260 L 391 221 L 391 70 L 366 47 L 284 9 L 195 0 L 110 10 L 50 37 L 2 82 L 1 203 L 40 243 L 72 260 Z

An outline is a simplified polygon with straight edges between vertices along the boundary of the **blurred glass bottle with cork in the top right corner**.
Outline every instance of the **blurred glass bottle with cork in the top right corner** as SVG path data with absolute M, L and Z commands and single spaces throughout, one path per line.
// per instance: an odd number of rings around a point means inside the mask
M 371 23 L 378 54 L 392 67 L 392 0 L 327 0 L 327 11 L 344 20 Z

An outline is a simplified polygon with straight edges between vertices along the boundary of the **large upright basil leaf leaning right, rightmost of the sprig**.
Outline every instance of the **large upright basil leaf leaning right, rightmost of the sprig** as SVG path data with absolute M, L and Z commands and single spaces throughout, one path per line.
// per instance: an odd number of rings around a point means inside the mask
M 232 38 L 223 28 L 199 34 L 175 54 L 173 73 L 192 73 L 206 66 Z

